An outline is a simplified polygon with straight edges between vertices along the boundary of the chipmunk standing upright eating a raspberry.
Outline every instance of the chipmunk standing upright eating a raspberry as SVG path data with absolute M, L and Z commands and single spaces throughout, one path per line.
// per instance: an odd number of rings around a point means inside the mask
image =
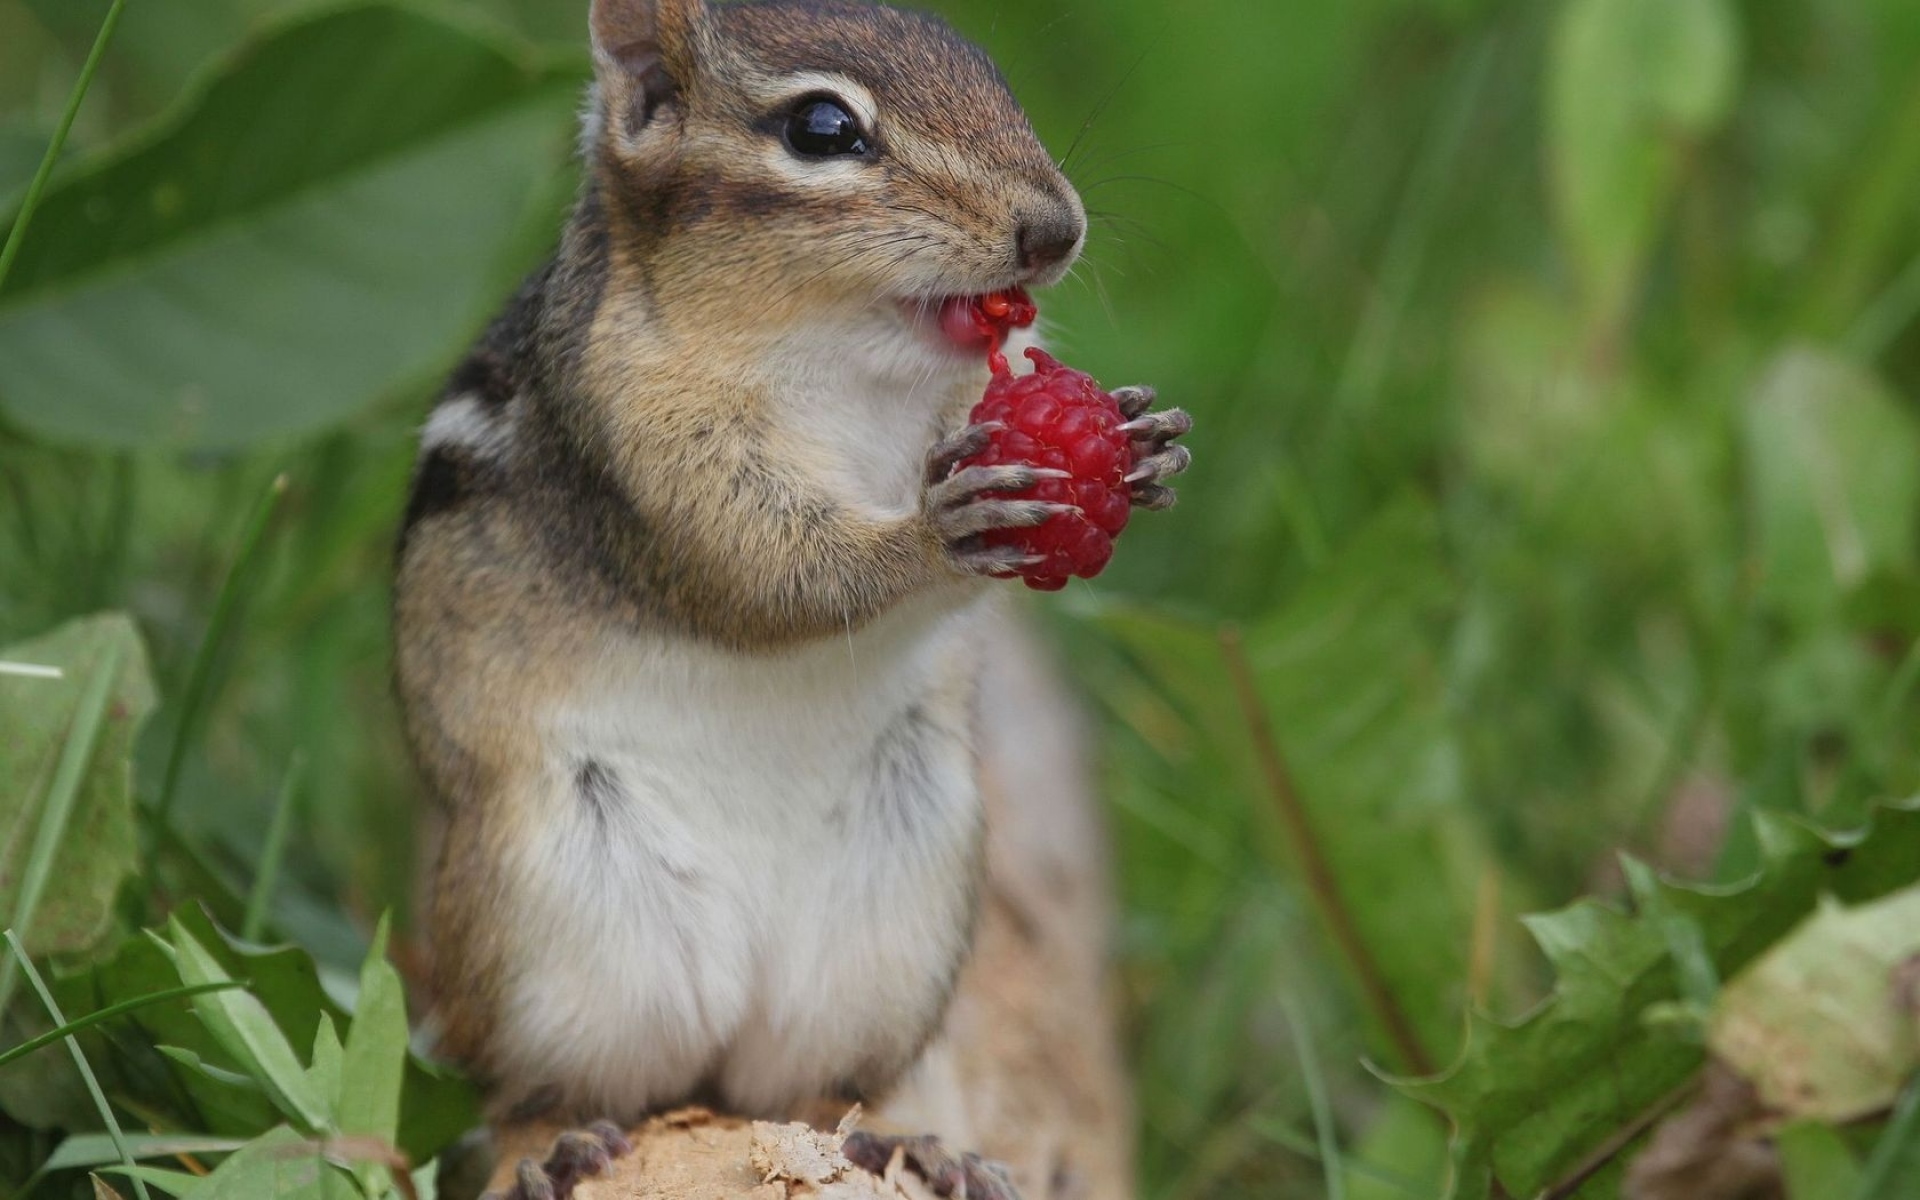
M 1020 553 L 979 536 L 1058 511 L 1000 495 L 1033 468 L 954 470 L 987 369 L 939 309 L 1060 280 L 1085 209 L 935 17 L 589 27 L 578 207 L 426 420 L 401 534 L 444 1046 L 495 1116 L 876 1096 L 970 947 L 975 639 Z M 1188 420 L 1116 396 L 1165 507 Z M 620 1150 L 568 1135 L 515 1196 Z M 1012 1194 L 956 1162 L 941 1187 Z

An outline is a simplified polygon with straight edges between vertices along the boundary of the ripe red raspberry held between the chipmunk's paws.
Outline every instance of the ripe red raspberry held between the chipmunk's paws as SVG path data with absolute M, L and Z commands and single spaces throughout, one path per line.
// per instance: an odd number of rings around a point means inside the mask
M 1052 467 L 1073 478 L 1041 480 L 1025 492 L 998 493 L 1008 499 L 1046 499 L 1077 505 L 1079 513 L 1048 516 L 1023 530 L 989 530 L 987 545 L 1018 545 L 1041 563 L 1014 570 L 1037 591 L 1058 591 L 1068 576 L 1091 580 L 1114 557 L 1114 538 L 1133 515 L 1127 472 L 1133 470 L 1133 444 L 1121 432 L 1119 403 L 1100 390 L 1085 371 L 1073 371 L 1043 349 L 1029 349 L 1033 374 L 1016 376 L 1006 357 L 991 355 L 993 380 L 973 405 L 972 422 L 998 422 L 987 449 L 960 467 L 1002 467 L 1025 463 Z

